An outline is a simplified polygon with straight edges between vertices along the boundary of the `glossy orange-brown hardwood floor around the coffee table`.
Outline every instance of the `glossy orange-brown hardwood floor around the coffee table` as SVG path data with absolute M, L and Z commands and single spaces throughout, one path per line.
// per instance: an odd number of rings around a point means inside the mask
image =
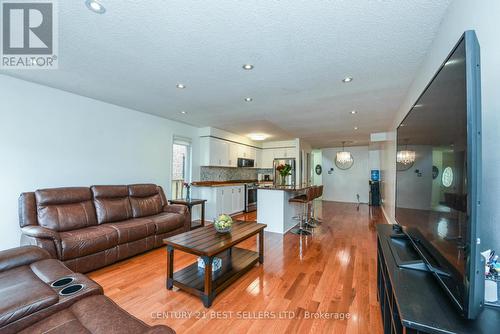
M 336 202 L 317 207 L 323 224 L 312 236 L 266 233 L 264 265 L 224 290 L 210 309 L 195 296 L 165 288 L 163 248 L 90 277 L 131 314 L 177 333 L 382 333 L 375 235 L 375 225 L 385 223 L 380 209 Z M 255 220 L 252 214 L 238 218 Z M 239 246 L 255 249 L 256 238 Z M 177 251 L 174 271 L 195 260 Z

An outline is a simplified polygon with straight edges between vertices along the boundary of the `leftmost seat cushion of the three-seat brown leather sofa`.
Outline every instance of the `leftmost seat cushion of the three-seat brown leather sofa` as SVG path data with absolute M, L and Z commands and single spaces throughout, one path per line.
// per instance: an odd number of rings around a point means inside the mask
M 60 237 L 62 248 L 61 260 L 70 260 L 94 254 L 118 244 L 117 231 L 105 225 L 61 232 Z

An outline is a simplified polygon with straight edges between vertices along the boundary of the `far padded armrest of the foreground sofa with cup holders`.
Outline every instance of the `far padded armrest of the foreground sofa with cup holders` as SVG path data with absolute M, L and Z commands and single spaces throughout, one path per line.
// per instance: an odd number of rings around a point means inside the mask
M 0 251 L 0 272 L 50 259 L 49 252 L 36 246 L 22 246 Z

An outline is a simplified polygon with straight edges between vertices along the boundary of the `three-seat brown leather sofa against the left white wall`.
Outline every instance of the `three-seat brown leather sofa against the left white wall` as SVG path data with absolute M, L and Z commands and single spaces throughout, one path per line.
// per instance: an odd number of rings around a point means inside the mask
M 189 210 L 169 205 L 154 184 L 42 189 L 19 198 L 21 244 L 89 272 L 162 245 L 191 227 Z

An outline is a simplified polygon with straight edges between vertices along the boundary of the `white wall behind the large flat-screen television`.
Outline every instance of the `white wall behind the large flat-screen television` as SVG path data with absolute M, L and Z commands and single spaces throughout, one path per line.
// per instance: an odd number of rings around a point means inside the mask
M 445 15 L 435 40 L 411 85 L 404 103 L 398 112 L 393 127 L 403 119 L 411 105 L 416 101 L 427 83 L 431 80 L 440 64 L 451 51 L 465 30 L 476 31 L 481 47 L 481 94 L 482 94 L 482 134 L 483 134 L 483 198 L 482 198 L 482 237 L 484 247 L 500 247 L 500 235 L 491 233 L 498 230 L 500 222 L 500 2 L 496 0 L 455 0 Z M 392 183 L 395 171 L 389 166 L 395 161 L 393 143 L 386 145 L 383 156 L 386 161 L 386 179 Z M 394 188 L 385 188 L 386 212 L 394 217 Z

